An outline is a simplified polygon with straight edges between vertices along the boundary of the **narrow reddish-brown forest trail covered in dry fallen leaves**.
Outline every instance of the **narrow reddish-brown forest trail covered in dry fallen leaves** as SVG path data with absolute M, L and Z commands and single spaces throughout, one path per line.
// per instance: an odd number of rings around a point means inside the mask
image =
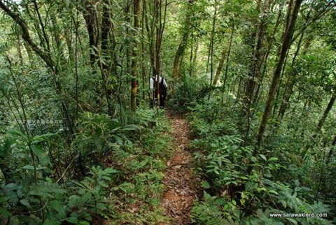
M 195 180 L 193 155 L 187 147 L 190 126 L 181 115 L 167 113 L 167 119 L 172 123 L 175 138 L 172 157 L 166 162 L 167 169 L 163 178 L 165 194 L 162 197 L 162 207 L 165 216 L 172 218 L 169 224 L 191 224 L 190 210 L 197 198 L 197 185 Z

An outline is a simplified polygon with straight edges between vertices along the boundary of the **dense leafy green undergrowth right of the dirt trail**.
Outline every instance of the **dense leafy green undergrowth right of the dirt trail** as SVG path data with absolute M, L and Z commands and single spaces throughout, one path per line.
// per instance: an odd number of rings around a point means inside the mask
M 195 162 L 200 177 L 204 177 L 204 195 L 193 208 L 193 223 L 332 224 L 331 206 L 314 198 L 314 187 L 304 180 L 307 171 L 311 173 L 309 164 L 284 163 L 286 156 L 290 158 L 279 151 L 281 145 L 255 154 L 255 148 L 244 143 L 244 134 L 237 127 L 238 115 L 234 105 L 224 105 L 221 99 L 190 108 Z M 293 166 L 302 174 L 293 175 Z M 285 216 L 272 217 L 272 213 Z M 288 213 L 299 217 L 286 217 Z M 300 217 L 300 213 L 324 215 Z

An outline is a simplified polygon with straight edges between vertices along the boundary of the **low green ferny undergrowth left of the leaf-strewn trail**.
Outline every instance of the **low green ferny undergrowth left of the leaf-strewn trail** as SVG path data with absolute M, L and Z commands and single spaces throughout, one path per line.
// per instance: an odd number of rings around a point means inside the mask
M 1 180 L 1 224 L 140 224 L 165 219 L 159 204 L 172 138 L 164 113 L 137 110 L 128 124 L 102 114 L 80 118 L 66 152 L 48 148 L 61 142 L 57 133 L 30 142 L 22 132 L 10 130 L 1 140 L 4 159 L 15 159 L 11 169 L 22 177 Z M 29 149 L 34 161 L 29 161 Z

